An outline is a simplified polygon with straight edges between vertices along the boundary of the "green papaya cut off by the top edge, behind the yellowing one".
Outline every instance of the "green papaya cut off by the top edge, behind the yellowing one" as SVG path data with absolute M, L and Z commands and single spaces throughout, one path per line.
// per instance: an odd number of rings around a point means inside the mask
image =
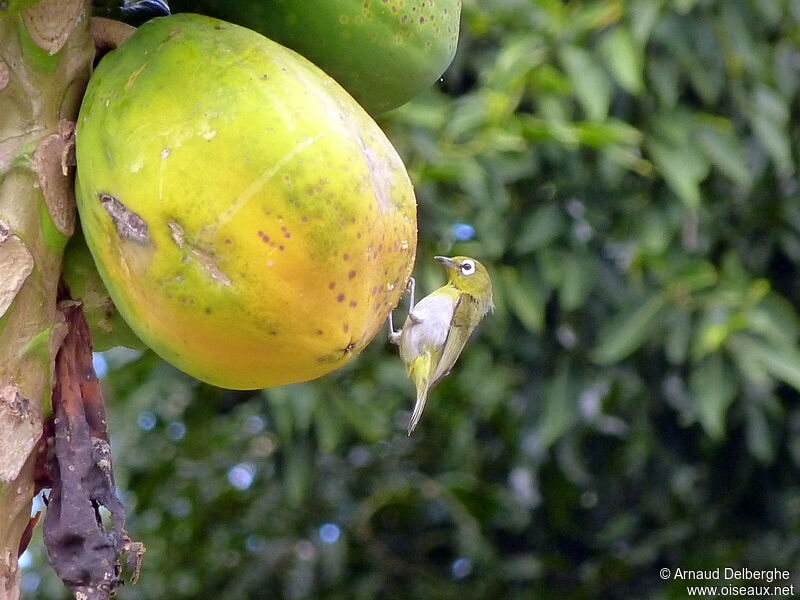
M 371 114 L 408 102 L 450 65 L 461 0 L 174 0 L 254 29 L 336 79 Z

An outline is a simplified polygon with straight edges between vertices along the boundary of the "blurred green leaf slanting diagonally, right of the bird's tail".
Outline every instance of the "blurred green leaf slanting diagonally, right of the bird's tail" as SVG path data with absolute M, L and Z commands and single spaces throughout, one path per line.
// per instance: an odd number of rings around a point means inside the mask
M 656 292 L 638 306 L 621 312 L 600 333 L 593 355 L 595 362 L 611 364 L 639 348 L 661 324 L 664 297 Z

